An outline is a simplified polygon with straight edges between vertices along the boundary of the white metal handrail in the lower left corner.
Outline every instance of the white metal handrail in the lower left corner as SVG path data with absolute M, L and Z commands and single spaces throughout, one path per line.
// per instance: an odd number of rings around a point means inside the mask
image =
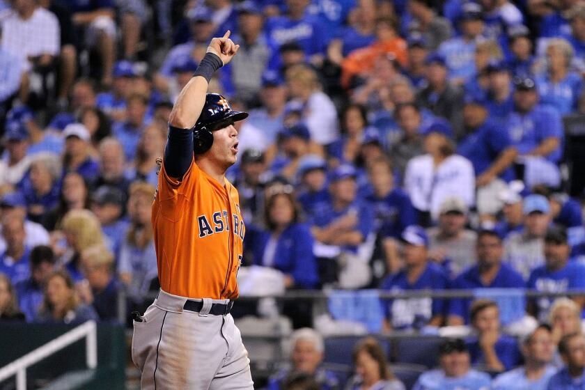
M 94 321 L 88 321 L 0 368 L 0 382 L 16 375 L 16 389 L 26 390 L 26 368 L 81 340 L 81 338 L 86 338 L 87 366 L 95 368 L 98 366 L 97 327 Z

